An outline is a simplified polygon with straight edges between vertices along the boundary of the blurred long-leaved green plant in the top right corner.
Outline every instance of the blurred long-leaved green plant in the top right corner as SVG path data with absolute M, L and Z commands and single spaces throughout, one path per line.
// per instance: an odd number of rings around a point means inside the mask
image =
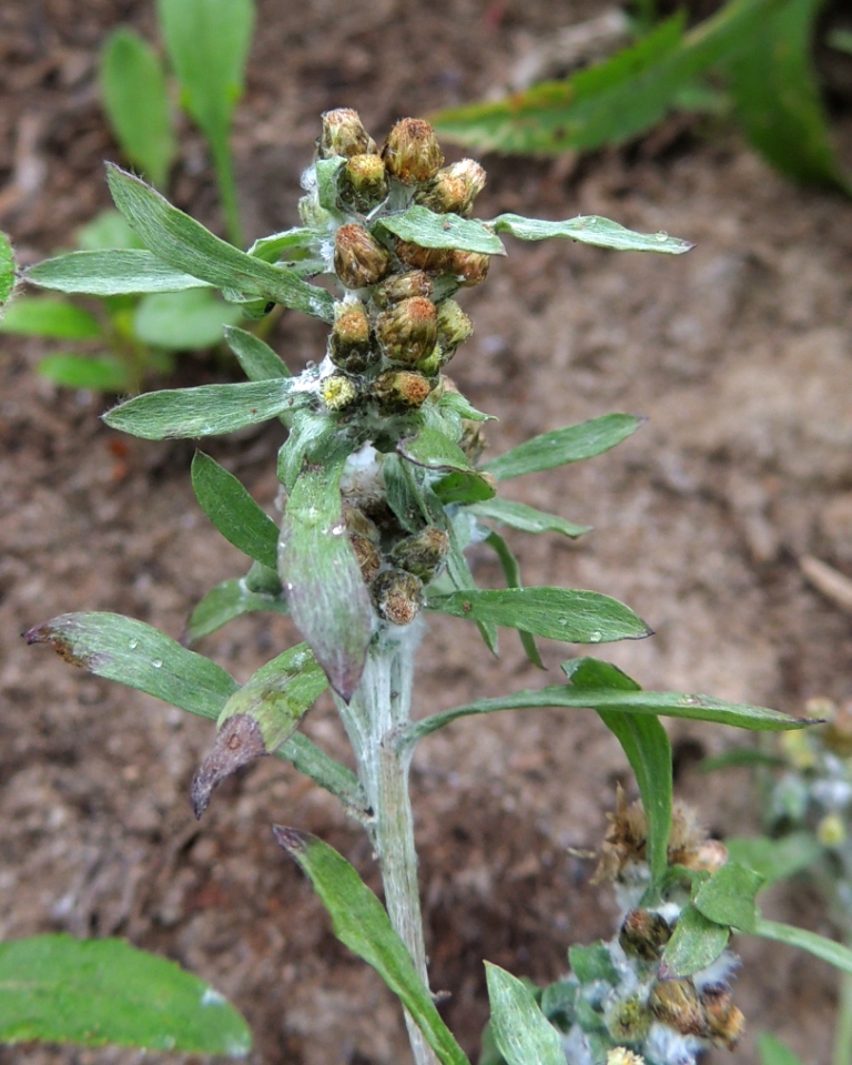
M 829 27 L 823 0 L 728 0 L 692 26 L 686 10 L 663 18 L 665 7 L 636 0 L 568 28 L 516 69 L 514 91 L 440 111 L 436 130 L 478 151 L 554 155 L 621 144 L 674 111 L 702 114 L 736 122 L 788 178 L 851 195 L 814 67 L 818 45 L 845 67 L 845 6 Z

